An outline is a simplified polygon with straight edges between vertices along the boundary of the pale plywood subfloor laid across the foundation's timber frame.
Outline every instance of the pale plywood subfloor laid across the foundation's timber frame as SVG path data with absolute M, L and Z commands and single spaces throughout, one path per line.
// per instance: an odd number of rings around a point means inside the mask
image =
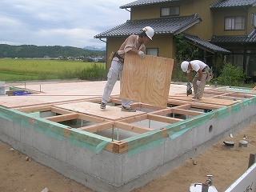
M 65 83 L 44 83 L 40 85 L 41 82 L 26 82 L 26 85 L 20 84 L 18 87 L 21 89 L 26 88 L 27 90 L 34 91 L 40 94 L 30 94 L 21 96 L 3 96 L 0 97 L 0 106 L 17 109 L 27 113 L 42 111 L 44 109 L 49 109 L 49 107 L 58 107 L 62 110 L 70 110 L 74 113 L 79 113 L 82 115 L 88 115 L 90 117 L 98 119 L 107 119 L 111 121 L 131 119 L 133 117 L 139 117 L 140 115 L 147 114 L 144 111 L 136 111 L 135 113 L 127 113 L 121 111 L 120 106 L 106 106 L 106 110 L 100 109 L 100 101 L 102 98 L 103 90 L 106 85 L 106 81 L 99 82 L 65 82 Z M 168 103 L 174 104 L 174 106 L 182 106 L 190 104 L 197 108 L 202 107 L 202 109 L 218 109 L 222 106 L 230 106 L 237 101 L 233 101 L 234 91 L 230 94 L 226 91 L 225 87 L 216 88 L 213 86 L 206 86 L 206 94 L 197 102 L 192 102 L 192 95 L 186 96 L 186 83 L 170 83 L 170 90 L 168 96 Z M 222 95 L 222 98 L 218 98 Z M 225 96 L 226 95 L 226 96 Z M 215 98 L 214 98 L 215 97 Z M 230 97 L 230 98 L 229 98 Z M 243 99 L 243 98 L 238 98 Z M 98 102 L 95 102 L 98 101 Z M 120 82 L 116 82 L 114 89 L 110 95 L 110 102 L 113 101 L 114 104 L 121 104 L 120 100 Z M 136 104 L 136 102 L 135 102 Z M 146 103 L 136 104 L 134 106 L 141 106 L 141 108 L 146 108 L 152 111 L 165 110 L 162 108 Z M 94 119 L 92 118 L 92 119 Z M 102 122 L 102 121 L 98 121 Z

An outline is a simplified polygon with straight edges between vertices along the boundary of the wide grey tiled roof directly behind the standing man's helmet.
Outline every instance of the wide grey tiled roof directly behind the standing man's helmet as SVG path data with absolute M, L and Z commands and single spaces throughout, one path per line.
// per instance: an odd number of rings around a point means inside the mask
M 145 26 L 151 26 L 154 34 L 179 34 L 183 30 L 202 22 L 198 14 L 183 17 L 154 18 L 143 20 L 128 20 L 125 23 L 97 34 L 94 38 L 121 37 L 139 34 Z

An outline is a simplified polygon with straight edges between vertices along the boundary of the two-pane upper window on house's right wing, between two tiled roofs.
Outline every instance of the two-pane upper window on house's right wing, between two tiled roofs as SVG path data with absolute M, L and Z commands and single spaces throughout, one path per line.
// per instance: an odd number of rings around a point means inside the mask
M 225 30 L 245 30 L 245 17 L 225 18 Z

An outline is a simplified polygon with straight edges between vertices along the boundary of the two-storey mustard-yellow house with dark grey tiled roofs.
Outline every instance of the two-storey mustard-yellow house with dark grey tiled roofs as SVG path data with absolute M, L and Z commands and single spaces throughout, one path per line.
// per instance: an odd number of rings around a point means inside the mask
M 110 55 L 130 34 L 151 26 L 155 34 L 146 44 L 146 54 L 175 58 L 174 35 L 182 33 L 187 42 L 206 50 L 205 61 L 214 57 L 210 66 L 215 69 L 226 59 L 256 76 L 255 4 L 256 0 L 138 0 L 120 6 L 130 9 L 130 20 L 94 38 L 106 39 Z

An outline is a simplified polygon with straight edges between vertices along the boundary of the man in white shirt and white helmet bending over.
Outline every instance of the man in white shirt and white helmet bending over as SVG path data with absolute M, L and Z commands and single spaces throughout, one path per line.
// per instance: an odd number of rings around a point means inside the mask
M 190 62 L 182 62 L 181 68 L 183 72 L 187 73 L 187 86 L 190 86 L 190 70 L 197 72 L 192 81 L 194 89 L 194 97 L 192 98 L 192 101 L 198 101 L 198 99 L 202 98 L 202 94 L 206 86 L 206 78 L 210 71 L 209 66 L 202 61 L 194 60 Z

